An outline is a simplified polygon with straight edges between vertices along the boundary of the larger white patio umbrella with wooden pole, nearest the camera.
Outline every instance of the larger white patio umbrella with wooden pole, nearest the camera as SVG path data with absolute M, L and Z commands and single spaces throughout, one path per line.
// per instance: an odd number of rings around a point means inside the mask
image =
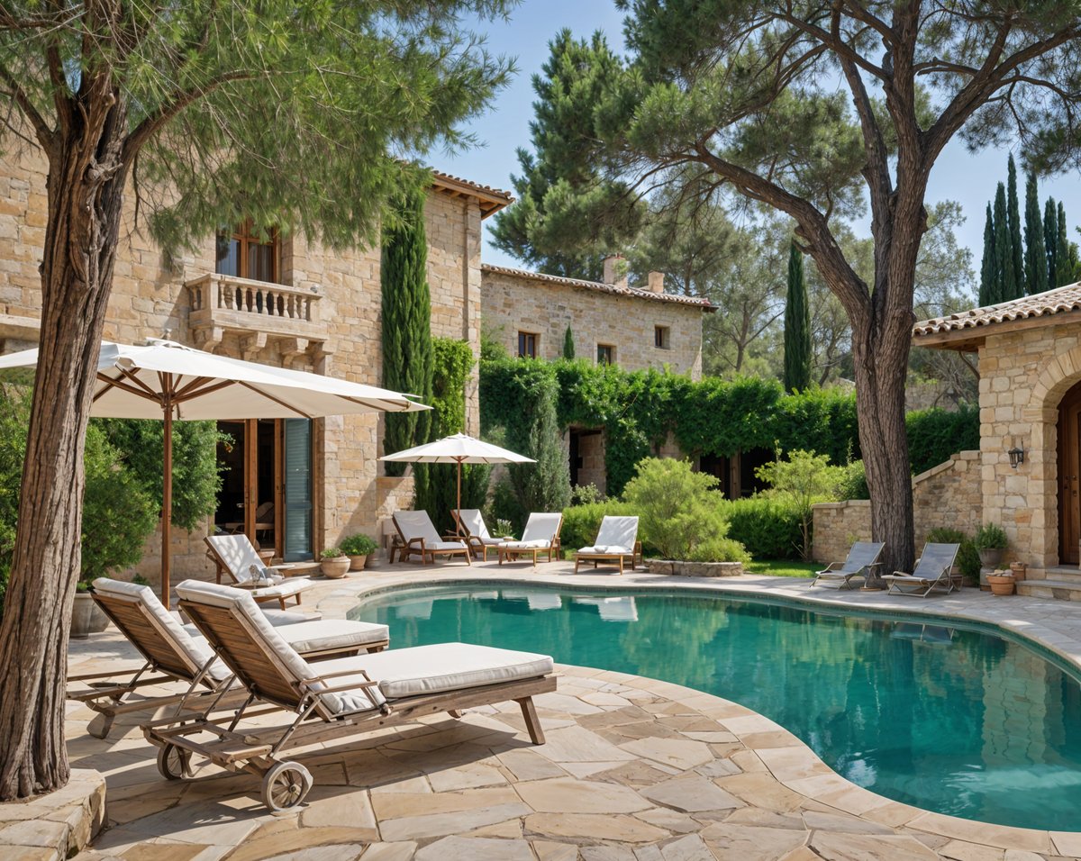
M 37 364 L 37 349 L 0 356 L 0 372 L 31 369 Z M 164 340 L 151 340 L 146 347 L 103 341 L 96 373 L 92 416 L 165 422 L 161 597 L 166 607 L 174 420 L 319 418 L 430 409 L 387 389 L 242 362 Z

